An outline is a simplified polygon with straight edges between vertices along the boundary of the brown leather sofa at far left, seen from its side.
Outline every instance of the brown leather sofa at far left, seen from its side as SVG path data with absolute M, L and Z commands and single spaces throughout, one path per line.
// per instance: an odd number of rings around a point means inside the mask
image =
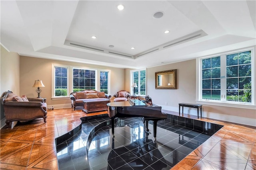
M 44 103 L 43 98 L 19 97 L 7 91 L 2 94 L 1 104 L 4 106 L 7 127 L 12 121 L 30 121 L 37 118 L 44 118 L 46 123 L 47 104 Z

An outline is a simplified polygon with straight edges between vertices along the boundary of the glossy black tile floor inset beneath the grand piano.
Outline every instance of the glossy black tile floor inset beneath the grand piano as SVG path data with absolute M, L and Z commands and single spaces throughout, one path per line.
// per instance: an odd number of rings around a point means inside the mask
M 158 121 L 156 141 L 140 117 L 118 118 L 114 138 L 108 117 L 84 121 L 79 133 L 57 145 L 59 169 L 169 170 L 212 135 L 166 120 Z

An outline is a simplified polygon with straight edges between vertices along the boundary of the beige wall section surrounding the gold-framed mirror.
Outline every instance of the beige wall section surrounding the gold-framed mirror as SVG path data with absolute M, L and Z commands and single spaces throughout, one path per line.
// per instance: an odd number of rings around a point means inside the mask
M 155 72 L 177 69 L 177 89 L 155 89 Z M 166 64 L 147 69 L 147 94 L 153 103 L 177 107 L 178 103 L 195 103 L 196 60 Z

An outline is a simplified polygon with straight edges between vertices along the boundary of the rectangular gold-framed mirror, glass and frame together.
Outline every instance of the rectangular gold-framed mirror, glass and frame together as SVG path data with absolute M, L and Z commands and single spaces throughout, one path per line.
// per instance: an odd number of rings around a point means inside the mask
M 155 72 L 156 89 L 177 89 L 177 69 Z

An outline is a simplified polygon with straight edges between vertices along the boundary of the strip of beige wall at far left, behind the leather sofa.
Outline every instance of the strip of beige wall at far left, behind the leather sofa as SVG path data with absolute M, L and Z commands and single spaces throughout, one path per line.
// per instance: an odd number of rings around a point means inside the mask
M 0 53 L 0 93 L 1 95 L 10 90 L 13 93 L 20 94 L 20 56 L 18 53 L 8 52 L 1 45 Z M 1 127 L 4 125 L 4 111 L 0 106 Z

